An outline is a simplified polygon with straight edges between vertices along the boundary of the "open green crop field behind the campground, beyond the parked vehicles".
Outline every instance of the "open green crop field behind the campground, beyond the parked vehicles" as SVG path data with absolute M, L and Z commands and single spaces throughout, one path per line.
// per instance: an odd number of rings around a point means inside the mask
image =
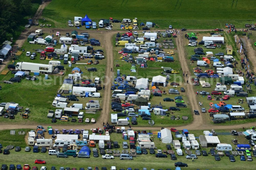
M 151 21 L 161 29 L 169 25 L 174 28 L 189 29 L 223 28 L 226 23 L 235 24 L 237 28 L 245 23 L 254 23 L 255 6 L 239 0 L 227 1 L 52 1 L 43 11 L 42 17 L 55 20 L 55 26 L 68 27 L 67 21 L 75 16 L 84 17 L 86 14 L 92 21 L 100 19 L 123 20 L 123 18 L 138 18 L 138 23 Z M 58 7 L 58 10 L 56 10 Z M 68 10 L 67 10 L 68 9 Z M 86 10 L 85 10 L 86 9 Z

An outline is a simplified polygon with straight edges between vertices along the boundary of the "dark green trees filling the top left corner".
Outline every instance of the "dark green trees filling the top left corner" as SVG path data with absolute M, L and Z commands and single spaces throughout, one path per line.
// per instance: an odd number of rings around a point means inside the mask
M 41 0 L 0 0 L 0 44 L 19 36 L 39 4 Z

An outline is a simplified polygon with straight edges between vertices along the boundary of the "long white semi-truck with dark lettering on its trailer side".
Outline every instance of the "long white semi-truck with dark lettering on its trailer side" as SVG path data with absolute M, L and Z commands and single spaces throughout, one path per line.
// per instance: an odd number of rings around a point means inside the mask
M 18 62 L 16 64 L 15 70 L 17 71 L 29 70 L 30 72 L 52 73 L 52 71 L 54 70 L 54 66 L 48 65 L 48 64 Z

